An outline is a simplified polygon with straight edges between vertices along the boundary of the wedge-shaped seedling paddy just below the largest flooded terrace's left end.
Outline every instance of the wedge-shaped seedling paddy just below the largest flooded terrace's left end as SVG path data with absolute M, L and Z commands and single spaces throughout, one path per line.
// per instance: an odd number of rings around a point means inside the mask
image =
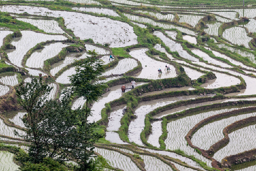
M 34 26 L 37 26 L 38 29 L 44 30 L 46 33 L 65 33 L 59 26 L 59 23 L 54 20 L 43 20 L 43 19 L 26 19 L 26 18 L 17 18 L 17 20 L 30 23 Z

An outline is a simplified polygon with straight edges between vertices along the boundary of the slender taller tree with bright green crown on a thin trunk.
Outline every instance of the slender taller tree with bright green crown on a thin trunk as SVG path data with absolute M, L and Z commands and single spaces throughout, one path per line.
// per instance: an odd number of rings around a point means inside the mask
M 93 101 L 98 101 L 99 97 L 104 93 L 106 88 L 102 82 L 99 82 L 98 76 L 104 71 L 103 61 L 97 59 L 97 53 L 89 51 L 90 56 L 87 58 L 75 61 L 76 73 L 70 77 L 72 90 L 78 97 L 83 97 L 86 100 L 85 113 L 79 115 L 81 124 L 78 126 L 79 132 L 87 132 L 94 123 L 87 123 L 87 117 L 91 115 L 88 104 Z M 93 135 L 96 136 L 96 135 Z M 93 149 L 93 147 L 92 147 Z M 77 156 L 80 160 L 78 171 L 89 171 L 92 166 L 93 160 L 90 160 L 88 152 L 79 153 Z

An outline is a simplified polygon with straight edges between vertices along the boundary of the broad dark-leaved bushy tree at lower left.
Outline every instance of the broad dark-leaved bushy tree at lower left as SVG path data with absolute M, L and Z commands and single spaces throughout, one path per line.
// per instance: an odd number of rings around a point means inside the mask
M 93 124 L 81 124 L 86 111 L 71 109 L 70 90 L 61 101 L 47 100 L 50 90 L 42 78 L 22 82 L 17 89 L 20 104 L 27 112 L 22 119 L 26 134 L 20 136 L 31 144 L 30 162 L 37 164 L 50 157 L 60 162 L 83 159 L 90 165 L 94 142 L 102 136 L 94 133 Z

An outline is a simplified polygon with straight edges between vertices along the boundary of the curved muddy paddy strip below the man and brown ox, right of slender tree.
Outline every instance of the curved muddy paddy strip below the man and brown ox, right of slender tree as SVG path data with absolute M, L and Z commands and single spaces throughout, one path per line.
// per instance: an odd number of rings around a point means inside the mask
M 146 84 L 144 82 L 137 82 L 138 85 Z M 101 112 L 102 109 L 105 108 L 105 103 L 109 103 L 110 101 L 116 100 L 120 98 L 124 93 L 121 90 L 122 85 L 115 85 L 113 87 L 110 87 L 110 91 L 102 95 L 102 98 L 98 100 L 98 102 L 94 102 L 91 113 L 92 116 L 89 116 L 87 120 L 92 123 L 100 120 L 102 118 Z

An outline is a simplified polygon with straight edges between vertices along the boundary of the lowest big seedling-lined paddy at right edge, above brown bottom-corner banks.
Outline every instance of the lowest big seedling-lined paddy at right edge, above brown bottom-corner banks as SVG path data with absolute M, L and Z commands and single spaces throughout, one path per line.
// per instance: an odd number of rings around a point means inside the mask
M 255 136 L 256 125 L 247 126 L 230 133 L 230 142 L 225 147 L 216 152 L 213 158 L 215 158 L 218 161 L 221 161 L 226 156 L 235 155 L 241 152 L 255 149 Z

